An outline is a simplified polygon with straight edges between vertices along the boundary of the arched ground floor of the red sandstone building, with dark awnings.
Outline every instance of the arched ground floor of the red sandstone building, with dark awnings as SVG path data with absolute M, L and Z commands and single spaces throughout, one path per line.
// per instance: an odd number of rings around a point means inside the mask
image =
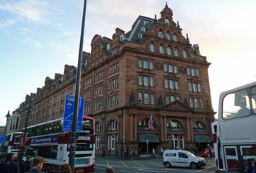
M 157 109 L 123 107 L 95 119 L 97 154 L 151 154 L 153 148 L 161 154 L 162 148 L 200 150 L 211 143 L 213 112 L 193 110 L 181 102 Z

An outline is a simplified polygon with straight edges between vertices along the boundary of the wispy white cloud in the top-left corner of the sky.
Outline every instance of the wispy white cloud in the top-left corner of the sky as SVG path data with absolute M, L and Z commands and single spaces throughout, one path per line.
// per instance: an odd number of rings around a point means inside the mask
M 15 3 L 4 2 L 0 4 L 0 10 L 17 14 L 22 19 L 29 19 L 35 22 L 43 20 L 43 16 L 48 14 L 48 4 L 46 1 L 22 0 Z

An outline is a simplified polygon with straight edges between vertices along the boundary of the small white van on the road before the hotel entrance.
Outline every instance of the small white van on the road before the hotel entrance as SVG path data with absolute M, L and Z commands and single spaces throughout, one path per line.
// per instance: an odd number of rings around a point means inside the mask
M 206 166 L 206 160 L 186 150 L 165 150 L 163 164 L 165 167 L 191 167 L 197 169 Z

